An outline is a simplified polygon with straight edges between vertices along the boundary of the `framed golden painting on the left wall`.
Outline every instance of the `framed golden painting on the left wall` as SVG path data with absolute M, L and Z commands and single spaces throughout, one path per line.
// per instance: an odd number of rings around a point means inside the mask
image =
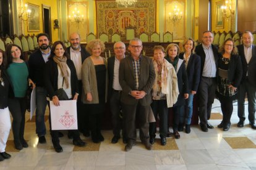
M 39 6 L 36 6 L 34 4 L 28 4 L 28 10 L 30 10 L 30 14 L 28 14 L 28 31 L 29 32 L 40 31 Z

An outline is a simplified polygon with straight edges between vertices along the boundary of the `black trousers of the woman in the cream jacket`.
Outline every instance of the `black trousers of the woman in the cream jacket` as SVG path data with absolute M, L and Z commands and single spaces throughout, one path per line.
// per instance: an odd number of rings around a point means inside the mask
M 168 107 L 166 100 L 153 100 L 151 103 L 151 109 L 154 113 L 155 119 L 159 115 L 159 129 L 160 137 L 166 137 L 168 132 Z M 156 122 L 150 123 L 149 126 L 150 137 L 156 137 Z

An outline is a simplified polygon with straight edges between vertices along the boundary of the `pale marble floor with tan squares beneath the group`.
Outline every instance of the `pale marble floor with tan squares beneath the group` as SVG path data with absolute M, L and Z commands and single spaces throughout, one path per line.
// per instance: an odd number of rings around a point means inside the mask
M 49 132 L 46 144 L 38 144 L 35 123 L 28 121 L 25 139 L 29 147 L 15 150 L 11 132 L 6 151 L 12 157 L 0 162 L 0 169 L 256 169 L 256 131 L 250 128 L 247 119 L 244 127 L 236 127 L 236 103 L 228 132 L 216 127 L 222 117 L 218 100 L 212 113 L 210 123 L 215 128 L 209 132 L 192 126 L 190 134 L 181 132 L 181 139 L 169 138 L 165 147 L 156 140 L 153 150 L 148 151 L 137 140 L 130 152 L 124 152 L 121 140 L 111 144 L 112 132 L 103 131 L 105 141 L 101 144 L 93 144 L 90 138 L 81 135 L 87 142 L 83 148 L 74 147 L 64 132 L 65 136 L 60 138 L 64 152 L 56 153 Z M 49 127 L 48 121 L 46 124 Z

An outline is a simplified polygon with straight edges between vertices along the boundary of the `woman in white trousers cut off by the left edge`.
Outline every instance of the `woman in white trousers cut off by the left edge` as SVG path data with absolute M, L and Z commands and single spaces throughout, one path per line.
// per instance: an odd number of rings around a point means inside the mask
M 8 108 L 8 92 L 10 80 L 4 70 L 4 51 L 0 49 L 0 161 L 11 158 L 6 153 L 6 142 L 11 129 L 11 119 Z

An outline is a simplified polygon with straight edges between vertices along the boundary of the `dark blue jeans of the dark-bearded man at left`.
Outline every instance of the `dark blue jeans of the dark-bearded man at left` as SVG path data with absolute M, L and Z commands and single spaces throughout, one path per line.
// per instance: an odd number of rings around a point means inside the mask
M 46 100 L 47 91 L 45 87 L 36 87 L 36 134 L 38 136 L 45 136 L 45 109 L 47 105 Z

